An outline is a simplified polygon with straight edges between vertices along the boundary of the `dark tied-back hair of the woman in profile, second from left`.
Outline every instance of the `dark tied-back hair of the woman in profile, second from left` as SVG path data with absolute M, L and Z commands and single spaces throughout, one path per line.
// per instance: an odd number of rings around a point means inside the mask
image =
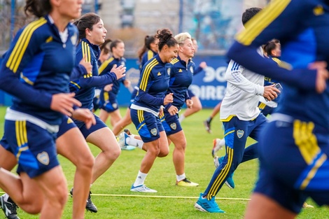
M 74 22 L 79 31 L 79 39 L 85 38 L 85 29 L 92 30 L 92 26 L 97 24 L 101 17 L 95 13 L 86 13 Z

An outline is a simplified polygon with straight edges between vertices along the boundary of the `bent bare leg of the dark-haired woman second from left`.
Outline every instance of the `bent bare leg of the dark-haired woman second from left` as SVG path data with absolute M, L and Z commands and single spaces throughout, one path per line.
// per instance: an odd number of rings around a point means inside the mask
M 94 183 L 116 161 L 121 149 L 118 141 L 116 141 L 116 136 L 108 127 L 92 132 L 86 140 L 102 150 L 95 158 L 94 168 L 92 169 L 92 183 Z

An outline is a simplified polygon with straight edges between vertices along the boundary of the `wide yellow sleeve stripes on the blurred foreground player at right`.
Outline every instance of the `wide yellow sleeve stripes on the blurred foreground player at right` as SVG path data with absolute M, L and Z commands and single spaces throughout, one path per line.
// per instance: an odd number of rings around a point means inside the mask
M 260 10 L 250 21 L 246 23 L 246 29 L 237 34 L 237 41 L 243 45 L 250 45 L 251 42 L 278 17 L 288 6 L 291 0 L 275 0 Z

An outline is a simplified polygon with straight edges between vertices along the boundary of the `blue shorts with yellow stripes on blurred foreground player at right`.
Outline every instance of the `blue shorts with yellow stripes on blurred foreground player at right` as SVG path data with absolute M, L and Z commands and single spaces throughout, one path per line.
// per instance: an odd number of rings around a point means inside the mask
M 329 135 L 311 127 L 296 120 L 275 120 L 260 133 L 255 192 L 295 213 L 308 197 L 320 206 L 329 205 Z

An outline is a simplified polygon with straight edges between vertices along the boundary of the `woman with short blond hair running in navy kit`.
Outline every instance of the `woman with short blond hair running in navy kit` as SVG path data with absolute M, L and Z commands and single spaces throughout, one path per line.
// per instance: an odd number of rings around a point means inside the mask
M 188 86 L 192 83 L 195 70 L 192 62 L 195 48 L 188 33 L 178 34 L 175 39 L 179 43 L 179 56 L 171 62 L 173 67 L 167 90 L 167 94 L 173 94 L 174 102 L 165 106 L 162 125 L 169 141 L 175 146 L 172 160 L 176 171 L 176 185 L 197 186 L 199 184 L 189 181 L 185 175 L 186 136 L 179 122 L 179 111 L 183 104 L 186 103 L 188 108 L 193 106 L 193 101 L 188 97 Z

